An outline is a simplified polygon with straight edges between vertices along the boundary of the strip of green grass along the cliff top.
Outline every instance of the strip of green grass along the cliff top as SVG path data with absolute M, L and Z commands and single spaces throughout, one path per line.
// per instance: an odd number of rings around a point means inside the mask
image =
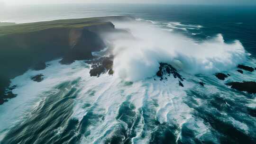
M 28 33 L 35 32 L 39 30 L 44 30 L 48 28 L 82 28 L 88 26 L 95 26 L 106 24 L 109 22 L 103 21 L 102 18 L 79 18 L 79 19 L 63 19 L 63 20 L 53 20 L 35 23 L 24 23 L 24 24 L 14 24 L 0 23 L 0 36 L 9 35 L 14 33 Z

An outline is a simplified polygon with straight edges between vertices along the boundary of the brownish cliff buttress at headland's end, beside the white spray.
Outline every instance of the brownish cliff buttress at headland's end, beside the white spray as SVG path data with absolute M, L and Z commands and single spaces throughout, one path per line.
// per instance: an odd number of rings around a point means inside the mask
M 73 63 L 75 60 L 88 60 L 93 58 L 91 52 L 100 51 L 106 45 L 101 34 L 115 31 L 112 23 L 72 29 L 69 33 L 69 48 L 61 61 L 63 64 Z

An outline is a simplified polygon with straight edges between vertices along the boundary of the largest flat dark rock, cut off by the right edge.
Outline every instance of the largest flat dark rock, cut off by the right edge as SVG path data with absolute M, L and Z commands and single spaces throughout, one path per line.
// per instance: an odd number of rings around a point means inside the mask
M 239 91 L 247 91 L 250 94 L 256 93 L 256 82 L 244 81 L 244 82 L 229 82 L 226 85 L 231 86 L 232 89 Z

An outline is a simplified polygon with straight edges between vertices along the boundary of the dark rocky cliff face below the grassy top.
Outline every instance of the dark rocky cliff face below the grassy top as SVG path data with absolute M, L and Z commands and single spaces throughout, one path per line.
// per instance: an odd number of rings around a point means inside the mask
M 100 33 L 114 30 L 112 23 L 83 28 L 49 28 L 0 36 L 0 75 L 13 78 L 39 62 L 64 57 L 63 63 L 91 59 L 105 47 Z

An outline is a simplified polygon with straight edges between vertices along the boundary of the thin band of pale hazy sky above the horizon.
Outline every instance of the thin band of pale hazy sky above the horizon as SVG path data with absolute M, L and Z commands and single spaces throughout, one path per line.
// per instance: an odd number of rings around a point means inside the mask
M 0 0 L 0 5 L 58 3 L 168 3 L 168 4 L 242 4 L 256 5 L 256 0 Z

